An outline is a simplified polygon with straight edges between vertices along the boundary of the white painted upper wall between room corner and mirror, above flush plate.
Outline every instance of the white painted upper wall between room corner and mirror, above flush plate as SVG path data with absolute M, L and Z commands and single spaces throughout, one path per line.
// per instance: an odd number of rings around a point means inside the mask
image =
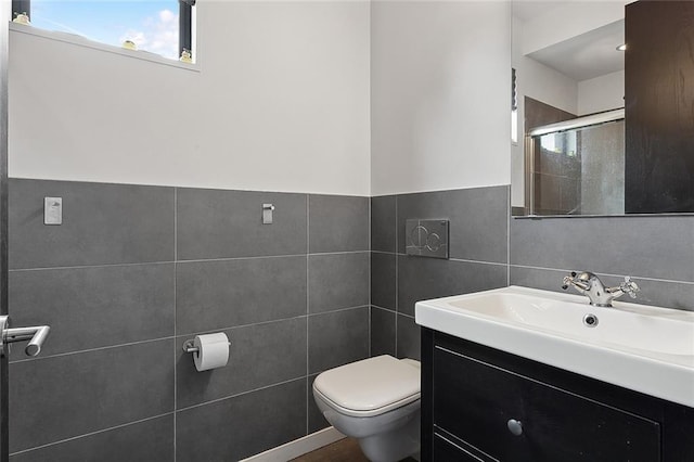
M 372 194 L 510 182 L 507 2 L 372 3 Z

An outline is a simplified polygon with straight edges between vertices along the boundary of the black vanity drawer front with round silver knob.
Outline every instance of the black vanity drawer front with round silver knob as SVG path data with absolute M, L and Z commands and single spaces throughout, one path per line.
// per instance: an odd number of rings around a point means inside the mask
M 660 460 L 657 422 L 452 351 L 433 359 L 434 424 L 496 459 Z

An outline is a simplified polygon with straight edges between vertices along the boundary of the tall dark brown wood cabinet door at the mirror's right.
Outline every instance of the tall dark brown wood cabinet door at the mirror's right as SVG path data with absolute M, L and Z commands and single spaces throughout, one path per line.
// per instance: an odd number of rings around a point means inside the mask
M 694 211 L 694 2 L 625 11 L 626 213 Z

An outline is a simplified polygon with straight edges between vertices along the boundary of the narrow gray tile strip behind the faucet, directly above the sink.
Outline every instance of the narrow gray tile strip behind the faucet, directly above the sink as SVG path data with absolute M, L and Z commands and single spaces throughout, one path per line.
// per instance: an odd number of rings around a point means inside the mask
M 522 285 L 525 287 L 542 288 L 545 291 L 562 291 L 562 279 L 566 275 L 566 271 L 548 270 L 541 268 L 511 267 L 511 284 Z M 607 285 L 618 285 L 624 275 L 601 274 L 600 279 Z M 628 275 L 628 274 L 625 274 Z M 632 279 L 641 290 L 637 294 L 637 298 L 622 296 L 618 301 L 629 301 L 633 304 L 654 305 L 664 308 L 674 308 L 682 310 L 693 310 L 694 306 L 694 283 L 691 282 L 669 282 L 652 279 Z M 568 288 L 568 293 L 577 292 Z M 588 298 L 586 298 L 588 303 Z

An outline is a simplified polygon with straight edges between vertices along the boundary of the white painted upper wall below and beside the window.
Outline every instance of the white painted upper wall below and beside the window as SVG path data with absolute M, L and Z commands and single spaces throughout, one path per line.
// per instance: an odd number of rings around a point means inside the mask
M 11 33 L 10 176 L 368 195 L 369 2 L 197 4 L 198 73 Z

